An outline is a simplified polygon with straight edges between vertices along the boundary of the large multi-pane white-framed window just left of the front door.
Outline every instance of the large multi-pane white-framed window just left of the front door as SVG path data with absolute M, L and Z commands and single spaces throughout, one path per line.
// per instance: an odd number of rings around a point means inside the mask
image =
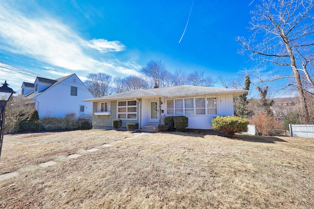
M 118 118 L 119 119 L 136 119 L 137 118 L 137 102 L 131 101 L 118 101 Z

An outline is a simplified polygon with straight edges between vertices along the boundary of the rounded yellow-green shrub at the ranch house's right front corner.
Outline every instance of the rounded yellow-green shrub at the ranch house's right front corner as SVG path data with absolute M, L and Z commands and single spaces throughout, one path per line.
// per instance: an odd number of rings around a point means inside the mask
M 232 137 L 235 133 L 247 131 L 249 120 L 237 116 L 217 116 L 211 119 L 211 124 L 214 130 Z

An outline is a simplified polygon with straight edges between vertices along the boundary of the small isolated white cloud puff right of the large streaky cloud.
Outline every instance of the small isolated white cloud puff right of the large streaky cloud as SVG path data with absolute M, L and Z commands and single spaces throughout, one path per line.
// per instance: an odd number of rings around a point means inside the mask
M 101 53 L 108 51 L 122 51 L 125 46 L 119 41 L 108 41 L 105 39 L 93 39 L 87 44 L 91 48 L 99 50 Z

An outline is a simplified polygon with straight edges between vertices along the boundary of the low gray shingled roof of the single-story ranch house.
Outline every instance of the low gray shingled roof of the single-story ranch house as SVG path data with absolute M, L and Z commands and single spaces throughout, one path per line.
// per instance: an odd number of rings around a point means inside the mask
M 130 92 L 117 93 L 112 95 L 107 95 L 99 98 L 85 99 L 83 101 L 93 102 L 93 101 L 103 101 L 103 100 L 118 100 L 118 99 L 131 99 L 131 98 L 143 98 L 149 96 L 161 96 L 161 97 L 183 97 L 183 96 L 196 96 L 196 95 L 210 95 L 210 94 L 233 94 L 233 97 L 237 97 L 247 90 L 243 89 L 225 89 L 225 88 L 215 88 L 215 87 L 202 87 L 202 86 L 174 86 L 166 88 L 157 89 L 138 89 Z

